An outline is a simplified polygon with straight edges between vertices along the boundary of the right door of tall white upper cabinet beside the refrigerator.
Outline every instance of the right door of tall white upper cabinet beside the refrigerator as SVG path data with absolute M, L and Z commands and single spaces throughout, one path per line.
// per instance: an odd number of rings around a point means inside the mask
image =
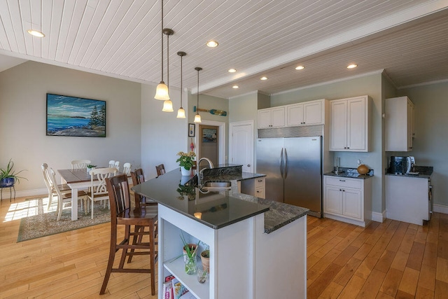
M 365 134 L 367 122 L 365 97 L 347 101 L 347 149 L 367 151 Z

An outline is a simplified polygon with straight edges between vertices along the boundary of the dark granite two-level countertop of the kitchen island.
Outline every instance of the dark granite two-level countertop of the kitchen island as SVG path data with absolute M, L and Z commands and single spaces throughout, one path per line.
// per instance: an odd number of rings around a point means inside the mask
M 185 186 L 189 178 L 176 169 L 132 190 L 214 229 L 265 213 L 265 232 L 270 233 L 307 214 L 309 210 L 302 207 L 237 193 L 237 181 L 262 176 L 265 174 L 221 174 L 214 179 L 232 181 L 232 190 L 202 193 L 194 186 Z M 208 179 L 211 181 L 211 176 Z M 195 213 L 201 213 L 201 218 Z

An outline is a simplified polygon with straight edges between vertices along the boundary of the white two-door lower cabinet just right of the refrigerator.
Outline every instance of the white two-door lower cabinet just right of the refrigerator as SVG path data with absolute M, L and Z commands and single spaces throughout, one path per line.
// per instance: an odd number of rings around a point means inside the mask
M 324 176 L 323 216 L 365 227 L 372 220 L 372 179 Z

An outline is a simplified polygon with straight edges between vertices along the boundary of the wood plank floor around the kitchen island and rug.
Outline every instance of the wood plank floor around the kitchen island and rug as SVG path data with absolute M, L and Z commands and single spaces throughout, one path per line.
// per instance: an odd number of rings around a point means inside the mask
M 148 274 L 134 273 L 113 273 L 99 295 L 109 223 L 16 243 L 23 200 L 0 205 L 0 298 L 157 298 Z M 448 298 L 448 215 L 367 228 L 309 217 L 307 241 L 309 299 Z

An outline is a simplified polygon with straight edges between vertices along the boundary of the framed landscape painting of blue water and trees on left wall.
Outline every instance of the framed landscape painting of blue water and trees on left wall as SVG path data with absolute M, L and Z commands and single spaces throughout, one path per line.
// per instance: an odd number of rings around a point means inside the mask
M 106 102 L 48 93 L 47 136 L 106 137 Z

